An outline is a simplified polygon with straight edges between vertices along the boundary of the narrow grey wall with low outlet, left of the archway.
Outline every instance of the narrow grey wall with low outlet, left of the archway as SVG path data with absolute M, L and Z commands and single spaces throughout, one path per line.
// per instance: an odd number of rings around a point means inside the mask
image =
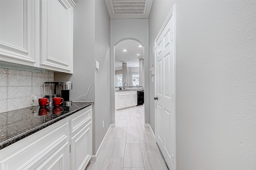
M 95 61 L 99 62 L 95 79 L 96 151 L 110 127 L 110 17 L 104 0 L 95 1 Z M 104 129 L 102 129 L 104 121 Z

